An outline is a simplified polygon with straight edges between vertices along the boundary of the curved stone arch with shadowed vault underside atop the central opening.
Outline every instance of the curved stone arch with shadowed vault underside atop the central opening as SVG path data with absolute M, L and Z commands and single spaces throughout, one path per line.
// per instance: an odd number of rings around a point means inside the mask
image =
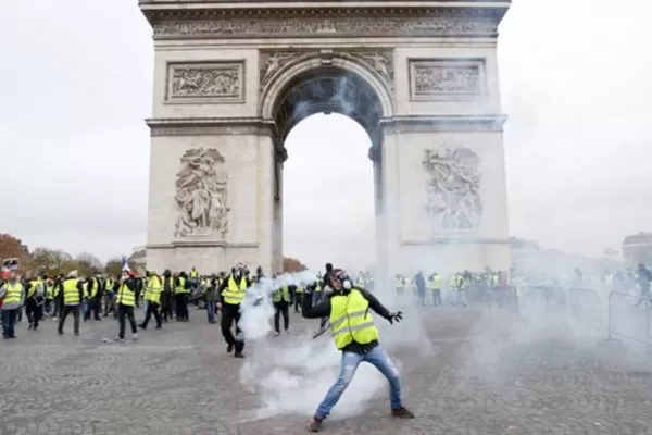
M 276 122 L 280 141 L 301 120 L 319 112 L 340 112 L 350 116 L 367 130 L 373 141 L 377 141 L 377 125 L 371 125 L 371 119 L 375 116 L 377 124 L 380 119 L 391 117 L 394 113 L 390 79 L 391 77 L 383 77 L 368 64 L 348 53 L 333 54 L 327 60 L 323 53 L 300 55 L 283 65 L 264 85 L 261 92 L 260 115 L 263 120 Z M 314 96 L 306 96 L 310 94 L 311 84 L 319 86 L 319 83 L 325 85 L 328 80 L 340 80 L 335 85 L 339 86 L 343 83 L 351 89 L 358 89 L 358 95 L 362 96 L 362 100 L 366 98 L 366 101 L 355 101 L 349 110 L 343 110 L 346 108 L 338 107 L 336 101 L 317 101 L 311 99 Z M 328 87 L 327 84 L 325 86 Z M 309 108 L 305 108 L 302 113 L 284 114 L 284 110 L 291 110 L 289 108 L 291 102 L 288 99 L 291 98 L 292 92 L 301 95 L 302 101 L 309 101 L 306 102 Z

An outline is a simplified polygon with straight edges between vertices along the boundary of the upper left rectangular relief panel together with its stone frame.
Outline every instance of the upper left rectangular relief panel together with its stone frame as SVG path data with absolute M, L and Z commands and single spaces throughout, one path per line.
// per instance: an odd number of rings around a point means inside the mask
M 168 62 L 166 103 L 243 103 L 244 61 Z

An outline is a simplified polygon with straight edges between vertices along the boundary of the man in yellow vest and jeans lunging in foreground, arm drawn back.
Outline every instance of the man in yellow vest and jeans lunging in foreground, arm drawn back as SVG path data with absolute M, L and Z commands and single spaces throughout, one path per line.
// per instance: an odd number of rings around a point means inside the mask
M 387 377 L 391 414 L 401 419 L 414 418 L 401 402 L 399 371 L 378 344 L 378 330 L 369 309 L 392 324 L 402 320 L 402 313 L 389 312 L 371 293 L 353 287 L 342 270 L 334 270 L 329 277 L 329 297 L 313 307 L 312 294 L 305 291 L 302 311 L 306 319 L 329 316 L 335 346 L 342 351 L 340 374 L 315 414 L 308 421 L 308 430 L 319 432 L 322 422 L 338 402 L 353 380 L 358 365 L 363 361 L 374 365 Z

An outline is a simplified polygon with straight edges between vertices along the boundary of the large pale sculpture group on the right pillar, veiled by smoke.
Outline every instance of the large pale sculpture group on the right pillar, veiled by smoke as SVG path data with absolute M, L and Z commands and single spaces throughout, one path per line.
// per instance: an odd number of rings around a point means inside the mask
M 429 175 L 424 208 L 435 228 L 464 231 L 479 226 L 482 216 L 479 157 L 468 148 L 426 149 L 422 164 Z

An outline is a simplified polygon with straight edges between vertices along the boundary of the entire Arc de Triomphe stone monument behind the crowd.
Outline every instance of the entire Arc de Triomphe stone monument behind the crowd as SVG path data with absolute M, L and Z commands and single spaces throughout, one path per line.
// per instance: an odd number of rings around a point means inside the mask
M 496 53 L 509 5 L 141 0 L 155 50 L 148 268 L 279 270 L 284 141 L 319 112 L 372 138 L 384 270 L 509 268 Z

